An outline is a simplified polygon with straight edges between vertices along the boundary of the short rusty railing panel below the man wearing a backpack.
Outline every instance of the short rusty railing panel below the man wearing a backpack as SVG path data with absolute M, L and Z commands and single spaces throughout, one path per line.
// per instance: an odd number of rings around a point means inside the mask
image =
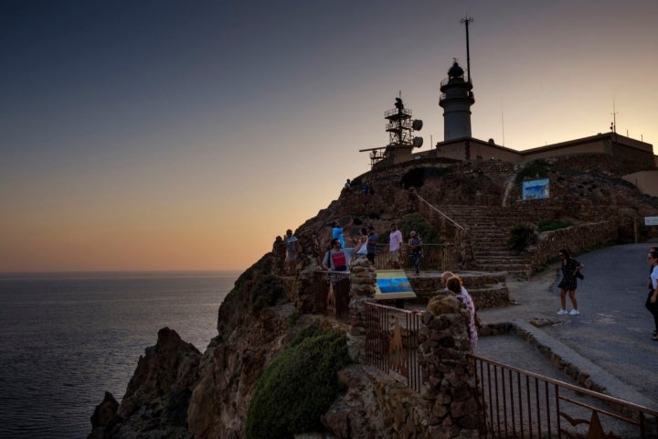
M 326 316 L 334 316 L 338 321 L 347 322 L 350 287 L 349 272 L 314 272 L 315 311 Z

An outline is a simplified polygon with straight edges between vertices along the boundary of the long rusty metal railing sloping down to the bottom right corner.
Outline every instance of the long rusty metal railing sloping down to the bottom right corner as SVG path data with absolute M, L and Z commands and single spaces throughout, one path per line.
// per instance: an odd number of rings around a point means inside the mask
M 472 355 L 481 437 L 655 438 L 658 411 Z

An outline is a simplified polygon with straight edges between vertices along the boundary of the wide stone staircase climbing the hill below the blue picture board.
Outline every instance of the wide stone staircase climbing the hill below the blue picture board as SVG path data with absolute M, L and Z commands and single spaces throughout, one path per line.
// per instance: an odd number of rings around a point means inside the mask
M 519 222 L 536 223 L 541 218 L 552 218 L 551 210 L 529 212 L 492 206 L 440 206 L 443 213 L 469 231 L 477 270 L 506 272 L 518 278 L 526 278 L 532 265 L 525 255 L 510 250 L 507 240 L 510 230 Z

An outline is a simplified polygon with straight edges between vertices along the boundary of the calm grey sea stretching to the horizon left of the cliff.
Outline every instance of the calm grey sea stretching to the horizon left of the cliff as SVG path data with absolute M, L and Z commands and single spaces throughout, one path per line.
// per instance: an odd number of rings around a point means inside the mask
M 159 329 L 206 350 L 239 274 L 0 273 L 0 438 L 85 438 Z

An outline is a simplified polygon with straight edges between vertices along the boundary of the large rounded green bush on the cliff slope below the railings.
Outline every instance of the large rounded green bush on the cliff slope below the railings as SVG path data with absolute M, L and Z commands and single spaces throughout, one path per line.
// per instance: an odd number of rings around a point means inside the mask
M 305 335 L 260 375 L 247 410 L 248 439 L 322 429 L 320 416 L 343 391 L 336 372 L 350 363 L 345 334 L 316 329 Z

